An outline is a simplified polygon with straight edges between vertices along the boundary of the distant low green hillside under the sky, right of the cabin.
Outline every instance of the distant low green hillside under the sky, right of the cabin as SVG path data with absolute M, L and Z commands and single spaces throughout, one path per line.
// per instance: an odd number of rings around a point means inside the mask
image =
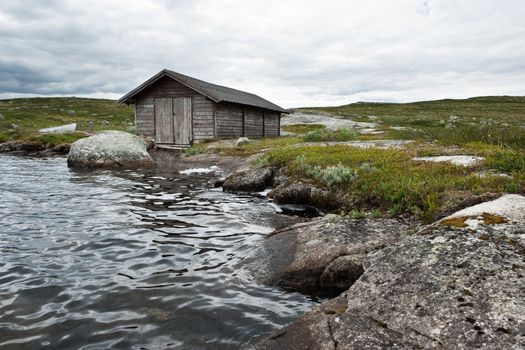
M 388 138 L 463 146 L 486 144 L 525 148 L 525 97 L 475 97 L 414 103 L 353 103 L 339 107 L 302 108 L 354 121 L 378 122 Z M 391 127 L 401 130 L 391 129 Z

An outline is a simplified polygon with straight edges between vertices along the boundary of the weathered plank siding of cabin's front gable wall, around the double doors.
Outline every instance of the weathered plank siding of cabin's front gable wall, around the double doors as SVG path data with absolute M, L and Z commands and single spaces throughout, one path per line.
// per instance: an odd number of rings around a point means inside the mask
M 193 140 L 199 141 L 215 136 L 215 102 L 168 77 L 160 79 L 137 96 L 135 102 L 137 132 L 151 138 L 155 137 L 154 105 L 155 98 L 160 97 L 191 97 Z

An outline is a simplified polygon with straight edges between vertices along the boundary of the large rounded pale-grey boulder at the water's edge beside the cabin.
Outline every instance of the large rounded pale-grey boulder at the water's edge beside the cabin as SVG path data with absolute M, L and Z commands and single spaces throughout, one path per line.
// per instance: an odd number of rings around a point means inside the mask
M 124 131 L 104 131 L 71 145 L 67 164 L 71 167 L 149 167 L 153 159 L 146 143 Z

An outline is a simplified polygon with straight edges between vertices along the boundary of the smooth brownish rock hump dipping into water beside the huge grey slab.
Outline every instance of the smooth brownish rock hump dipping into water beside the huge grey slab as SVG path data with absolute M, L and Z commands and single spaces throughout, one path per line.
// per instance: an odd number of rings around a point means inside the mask
M 327 215 L 274 232 L 249 260 L 249 267 L 267 284 L 338 294 L 361 276 L 367 253 L 399 240 L 406 229 L 392 219 Z

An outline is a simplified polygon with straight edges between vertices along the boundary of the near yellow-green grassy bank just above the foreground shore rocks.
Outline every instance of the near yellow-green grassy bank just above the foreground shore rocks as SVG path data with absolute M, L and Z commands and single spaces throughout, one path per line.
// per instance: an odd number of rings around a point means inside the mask
M 345 193 L 349 211 L 379 210 L 384 215 L 410 214 L 434 220 L 450 205 L 450 193 L 485 194 L 509 188 L 523 192 L 523 170 L 512 178 L 477 173 L 487 165 L 464 168 L 446 163 L 415 162 L 415 150 L 311 146 L 273 149 L 262 162 L 291 177 L 310 178 Z M 455 202 L 464 198 L 455 198 Z

